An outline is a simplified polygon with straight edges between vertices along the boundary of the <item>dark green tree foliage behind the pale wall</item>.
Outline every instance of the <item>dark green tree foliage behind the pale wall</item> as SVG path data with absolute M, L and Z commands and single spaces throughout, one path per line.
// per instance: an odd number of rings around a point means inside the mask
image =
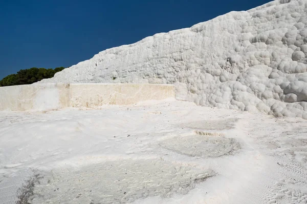
M 51 78 L 55 73 L 62 71 L 64 67 L 55 69 L 31 68 L 21 69 L 17 74 L 10 74 L 0 80 L 0 87 L 33 84 L 43 78 Z

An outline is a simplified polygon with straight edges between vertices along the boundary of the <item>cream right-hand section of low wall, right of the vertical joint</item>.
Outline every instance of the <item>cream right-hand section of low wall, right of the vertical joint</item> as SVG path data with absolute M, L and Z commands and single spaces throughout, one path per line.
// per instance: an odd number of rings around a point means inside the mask
M 69 96 L 71 107 L 94 108 L 174 98 L 175 91 L 173 85 L 160 84 L 70 84 Z

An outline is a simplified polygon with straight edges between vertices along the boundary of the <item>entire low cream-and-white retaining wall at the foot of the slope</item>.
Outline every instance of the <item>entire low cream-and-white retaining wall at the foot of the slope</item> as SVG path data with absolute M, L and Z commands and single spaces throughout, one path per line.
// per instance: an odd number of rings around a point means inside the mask
M 57 110 L 129 105 L 174 97 L 173 85 L 158 84 L 33 84 L 0 88 L 0 111 Z

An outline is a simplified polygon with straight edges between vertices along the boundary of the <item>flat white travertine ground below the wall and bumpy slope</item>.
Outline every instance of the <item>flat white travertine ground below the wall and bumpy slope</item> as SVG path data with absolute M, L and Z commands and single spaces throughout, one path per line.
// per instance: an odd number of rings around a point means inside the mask
M 0 112 L 0 203 L 306 203 L 307 123 L 173 99 Z

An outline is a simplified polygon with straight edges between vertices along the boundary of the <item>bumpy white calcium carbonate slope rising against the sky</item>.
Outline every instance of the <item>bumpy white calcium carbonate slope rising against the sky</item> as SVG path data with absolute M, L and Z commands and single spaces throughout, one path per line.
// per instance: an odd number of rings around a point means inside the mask
M 177 99 L 307 119 L 307 0 L 273 1 L 107 49 L 40 83 L 174 84 Z

